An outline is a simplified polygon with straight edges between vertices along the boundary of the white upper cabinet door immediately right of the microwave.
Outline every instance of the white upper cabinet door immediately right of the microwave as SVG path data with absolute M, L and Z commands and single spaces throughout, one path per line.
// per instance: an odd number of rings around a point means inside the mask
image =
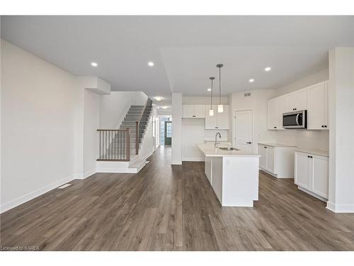
M 326 129 L 326 89 L 324 82 L 307 88 L 307 128 Z

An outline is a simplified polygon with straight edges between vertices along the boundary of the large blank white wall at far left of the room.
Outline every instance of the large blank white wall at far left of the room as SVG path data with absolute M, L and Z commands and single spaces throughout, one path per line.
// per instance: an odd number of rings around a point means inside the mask
M 72 74 L 1 40 L 1 211 L 74 178 Z

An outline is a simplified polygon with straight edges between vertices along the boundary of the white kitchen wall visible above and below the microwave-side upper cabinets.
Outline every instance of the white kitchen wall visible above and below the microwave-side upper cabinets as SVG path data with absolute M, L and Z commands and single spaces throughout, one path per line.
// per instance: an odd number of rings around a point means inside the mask
M 281 87 L 276 96 L 281 96 L 310 85 L 324 82 L 329 79 L 329 70 L 322 70 L 315 74 L 299 79 L 297 82 Z M 330 122 L 331 123 L 331 122 Z M 300 148 L 329 150 L 329 131 L 286 130 L 277 131 L 277 143 L 297 145 Z

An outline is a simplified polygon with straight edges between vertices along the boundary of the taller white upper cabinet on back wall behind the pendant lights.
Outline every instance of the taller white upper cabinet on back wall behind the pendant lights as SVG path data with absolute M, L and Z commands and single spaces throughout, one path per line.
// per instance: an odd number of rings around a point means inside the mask
M 217 112 L 217 105 L 213 105 L 214 116 L 209 116 L 210 106 L 205 106 L 205 129 L 229 129 L 229 106 L 224 105 L 222 113 Z

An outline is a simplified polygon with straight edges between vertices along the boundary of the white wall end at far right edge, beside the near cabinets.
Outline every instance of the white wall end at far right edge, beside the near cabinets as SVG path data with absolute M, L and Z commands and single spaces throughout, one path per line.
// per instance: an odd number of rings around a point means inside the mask
M 329 201 L 354 212 L 354 48 L 329 52 Z

